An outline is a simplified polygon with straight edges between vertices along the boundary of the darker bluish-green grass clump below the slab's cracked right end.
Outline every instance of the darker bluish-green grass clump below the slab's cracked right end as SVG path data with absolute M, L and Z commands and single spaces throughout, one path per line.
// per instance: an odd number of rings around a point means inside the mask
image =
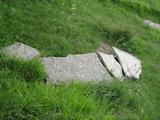
M 137 104 L 139 95 L 136 95 L 136 92 L 136 89 L 131 89 L 127 83 L 120 81 L 102 82 L 87 89 L 87 94 L 93 95 L 100 104 L 107 103 L 114 114 L 121 114 L 119 111 L 124 107 L 138 115 L 137 111 L 140 111 L 141 106 Z

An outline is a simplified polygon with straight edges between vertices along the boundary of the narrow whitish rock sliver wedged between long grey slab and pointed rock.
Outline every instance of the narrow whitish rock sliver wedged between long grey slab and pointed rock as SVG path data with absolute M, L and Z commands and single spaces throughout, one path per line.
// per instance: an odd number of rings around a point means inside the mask
M 123 72 L 121 65 L 115 60 L 113 55 L 98 52 L 99 58 L 108 69 L 108 71 L 118 79 L 122 79 Z

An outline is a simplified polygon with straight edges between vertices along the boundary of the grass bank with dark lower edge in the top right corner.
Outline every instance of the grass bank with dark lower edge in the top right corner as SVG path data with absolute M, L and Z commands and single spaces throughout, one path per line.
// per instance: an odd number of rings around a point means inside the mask
M 160 5 L 158 1 L 138 1 L 138 0 L 112 0 L 113 3 L 118 4 L 121 7 L 125 7 L 128 10 L 136 12 L 141 17 L 146 19 L 152 19 L 155 22 L 159 22 L 160 10 L 157 6 Z

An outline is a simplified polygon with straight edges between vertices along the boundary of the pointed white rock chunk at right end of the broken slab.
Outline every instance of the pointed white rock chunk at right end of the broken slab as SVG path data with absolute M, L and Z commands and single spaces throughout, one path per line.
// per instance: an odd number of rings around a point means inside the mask
M 142 72 L 141 61 L 131 54 L 113 47 L 125 75 L 129 78 L 139 79 Z

